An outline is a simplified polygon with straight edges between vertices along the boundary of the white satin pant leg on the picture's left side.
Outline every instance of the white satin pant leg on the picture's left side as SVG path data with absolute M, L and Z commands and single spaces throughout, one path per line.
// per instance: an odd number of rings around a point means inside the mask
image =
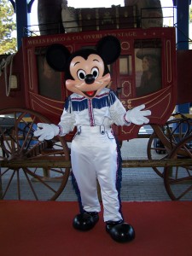
M 100 212 L 101 206 L 97 196 L 96 170 L 92 163 L 90 136 L 80 134 L 73 139 L 71 161 L 74 177 L 78 183 L 81 203 L 84 211 Z

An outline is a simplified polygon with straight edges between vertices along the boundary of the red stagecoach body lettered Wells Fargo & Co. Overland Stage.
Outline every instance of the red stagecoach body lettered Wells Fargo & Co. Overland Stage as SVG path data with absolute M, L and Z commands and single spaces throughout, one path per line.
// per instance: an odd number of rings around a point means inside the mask
M 15 55 L 12 72 L 17 76 L 18 87 L 10 91 L 9 97 L 4 93 L 1 108 L 29 108 L 42 113 L 55 124 L 58 123 L 69 92 L 65 88 L 64 73 L 51 70 L 46 63 L 47 47 L 50 44 L 65 44 L 71 51 L 85 47 L 94 48 L 96 42 L 108 34 L 119 38 L 121 42 L 119 60 L 110 67 L 111 89 L 116 91 L 125 108 L 133 108 L 144 103 L 146 108 L 152 111 L 150 123 L 164 124 L 172 114 L 177 99 L 173 27 L 23 38 L 22 53 L 20 51 Z M 155 58 L 155 79 L 159 80 L 154 84 L 148 83 L 148 88 L 143 90 L 140 83 L 144 55 L 152 55 Z M 4 90 L 5 86 L 2 87 Z M 119 140 L 137 137 L 138 129 L 137 125 L 118 128 Z

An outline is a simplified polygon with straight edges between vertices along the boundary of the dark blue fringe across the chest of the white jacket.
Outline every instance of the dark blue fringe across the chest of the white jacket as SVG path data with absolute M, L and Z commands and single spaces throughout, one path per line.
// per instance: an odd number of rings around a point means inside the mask
M 96 109 L 101 109 L 104 107 L 110 107 L 116 101 L 116 95 L 113 90 L 109 90 L 108 94 L 104 94 L 103 96 L 96 96 L 92 100 L 92 106 Z M 83 111 L 84 109 L 88 109 L 88 99 L 85 97 L 82 98 L 73 98 L 69 96 L 65 103 L 65 109 L 71 113 L 71 111 Z

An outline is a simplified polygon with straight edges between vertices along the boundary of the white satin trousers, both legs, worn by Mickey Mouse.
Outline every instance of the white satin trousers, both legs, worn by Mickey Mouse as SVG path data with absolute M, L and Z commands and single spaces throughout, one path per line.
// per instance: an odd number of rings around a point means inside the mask
M 87 212 L 99 212 L 96 177 L 101 186 L 104 221 L 119 220 L 119 197 L 116 189 L 117 145 L 110 130 L 102 135 L 98 127 L 82 127 L 73 139 L 72 167 L 82 205 Z M 109 138 L 110 137 L 110 138 Z

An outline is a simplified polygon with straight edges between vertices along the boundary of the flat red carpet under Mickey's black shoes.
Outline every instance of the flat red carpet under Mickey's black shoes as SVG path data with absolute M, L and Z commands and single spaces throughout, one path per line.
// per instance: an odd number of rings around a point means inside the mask
M 0 201 L 2 256 L 191 256 L 192 202 L 124 202 L 136 239 L 119 244 L 105 231 L 73 230 L 77 202 Z

